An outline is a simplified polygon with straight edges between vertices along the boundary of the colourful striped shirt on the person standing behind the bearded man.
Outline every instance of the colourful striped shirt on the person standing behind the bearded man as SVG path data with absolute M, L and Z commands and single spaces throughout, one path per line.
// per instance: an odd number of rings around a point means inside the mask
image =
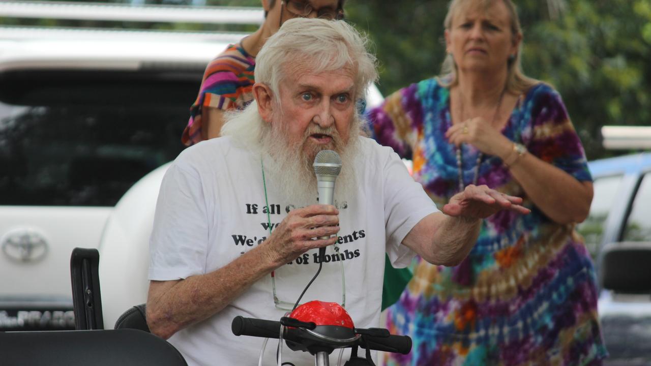
M 202 141 L 201 108 L 214 107 L 226 111 L 243 109 L 253 100 L 255 57 L 241 44 L 231 44 L 206 68 L 197 100 L 190 107 L 190 119 L 181 141 L 190 146 Z

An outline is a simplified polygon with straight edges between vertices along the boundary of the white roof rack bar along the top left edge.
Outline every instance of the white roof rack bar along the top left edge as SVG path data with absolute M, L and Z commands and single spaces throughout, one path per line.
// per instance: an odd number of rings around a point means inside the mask
M 187 7 L 70 3 L 65 1 L 1 1 L 0 18 L 145 21 L 165 23 L 256 24 L 264 21 L 258 7 Z

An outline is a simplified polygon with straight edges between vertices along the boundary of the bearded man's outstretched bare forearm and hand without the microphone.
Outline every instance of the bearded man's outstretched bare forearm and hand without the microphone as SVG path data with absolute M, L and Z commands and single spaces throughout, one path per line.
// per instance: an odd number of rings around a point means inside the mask
M 402 240 L 402 244 L 432 264 L 456 266 L 477 242 L 481 219 L 499 210 L 528 214 L 522 199 L 487 186 L 467 186 L 443 206 L 443 213 L 425 216 Z

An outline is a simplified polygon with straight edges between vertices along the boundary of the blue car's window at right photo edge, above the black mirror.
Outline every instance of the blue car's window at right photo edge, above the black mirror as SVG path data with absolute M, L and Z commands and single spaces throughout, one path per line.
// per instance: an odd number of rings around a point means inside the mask
M 644 175 L 637 189 L 622 241 L 651 242 L 651 173 Z

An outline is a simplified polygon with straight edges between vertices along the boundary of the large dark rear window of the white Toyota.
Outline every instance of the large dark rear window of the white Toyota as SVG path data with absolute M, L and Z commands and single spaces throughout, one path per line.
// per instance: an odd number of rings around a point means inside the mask
M 176 158 L 201 74 L 0 74 L 0 204 L 113 206 Z

